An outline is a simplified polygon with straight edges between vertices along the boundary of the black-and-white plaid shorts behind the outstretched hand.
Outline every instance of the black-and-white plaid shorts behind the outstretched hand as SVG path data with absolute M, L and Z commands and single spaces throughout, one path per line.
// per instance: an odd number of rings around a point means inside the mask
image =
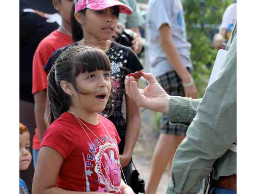
M 187 68 L 190 72 L 190 69 Z M 181 78 L 175 71 L 165 73 L 157 77 L 157 81 L 169 95 L 185 96 Z M 163 114 L 161 121 L 162 134 L 186 135 L 187 127 L 182 125 L 170 125 L 168 114 Z

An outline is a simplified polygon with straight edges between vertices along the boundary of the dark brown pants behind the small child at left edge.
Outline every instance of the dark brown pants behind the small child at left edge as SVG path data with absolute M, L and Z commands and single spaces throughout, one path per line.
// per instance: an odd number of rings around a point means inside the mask
M 19 122 L 24 124 L 30 133 L 30 153 L 32 155 L 32 141 L 35 135 L 35 114 L 34 114 L 34 103 L 19 100 Z M 19 178 L 21 178 L 26 184 L 31 193 L 32 180 L 34 176 L 33 158 L 27 170 L 19 171 Z

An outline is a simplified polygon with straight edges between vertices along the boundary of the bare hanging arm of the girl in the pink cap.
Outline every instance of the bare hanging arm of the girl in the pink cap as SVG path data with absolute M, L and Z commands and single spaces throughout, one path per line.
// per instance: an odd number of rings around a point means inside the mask
M 131 160 L 133 148 L 136 144 L 141 127 L 141 114 L 138 105 L 128 95 L 126 99 L 126 132 L 125 132 L 125 148 L 123 154 L 120 155 L 120 164 L 125 167 Z

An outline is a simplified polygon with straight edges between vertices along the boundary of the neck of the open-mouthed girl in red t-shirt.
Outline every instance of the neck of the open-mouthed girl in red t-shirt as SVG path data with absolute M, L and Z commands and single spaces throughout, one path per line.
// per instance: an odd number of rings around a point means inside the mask
M 88 111 L 85 111 L 82 108 L 72 106 L 69 108 L 68 112 L 75 114 L 75 116 L 83 119 L 84 121 L 90 124 L 97 125 L 99 123 L 98 113 L 89 113 Z

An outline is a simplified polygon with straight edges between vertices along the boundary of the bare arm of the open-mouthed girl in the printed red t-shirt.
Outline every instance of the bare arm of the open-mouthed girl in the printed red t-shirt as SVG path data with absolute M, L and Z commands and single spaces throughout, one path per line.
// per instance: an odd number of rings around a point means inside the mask
M 40 148 L 33 178 L 33 194 L 102 194 L 100 192 L 78 192 L 57 188 L 56 180 L 63 161 L 63 156 L 55 149 L 49 146 Z

